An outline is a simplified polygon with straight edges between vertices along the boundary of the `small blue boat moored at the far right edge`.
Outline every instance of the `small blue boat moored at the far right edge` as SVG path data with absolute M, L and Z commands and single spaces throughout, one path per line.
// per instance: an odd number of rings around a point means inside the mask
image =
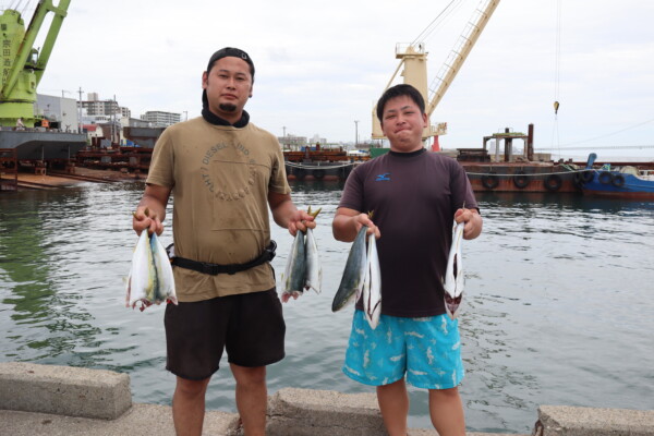
M 589 156 L 581 179 L 584 195 L 629 199 L 654 199 L 654 170 L 639 170 L 633 166 L 611 167 L 605 164 L 593 168 L 597 155 Z

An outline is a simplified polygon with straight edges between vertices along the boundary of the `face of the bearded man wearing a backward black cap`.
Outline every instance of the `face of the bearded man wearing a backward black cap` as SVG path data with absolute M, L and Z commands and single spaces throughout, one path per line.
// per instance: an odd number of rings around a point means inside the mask
M 250 64 L 231 56 L 218 59 L 211 70 L 202 75 L 202 87 L 207 92 L 209 110 L 234 123 L 252 97 Z

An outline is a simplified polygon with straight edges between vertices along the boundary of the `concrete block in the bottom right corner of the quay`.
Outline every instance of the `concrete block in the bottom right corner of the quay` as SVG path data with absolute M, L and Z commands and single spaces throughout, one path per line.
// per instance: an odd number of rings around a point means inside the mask
M 654 411 L 541 405 L 534 436 L 654 436 Z

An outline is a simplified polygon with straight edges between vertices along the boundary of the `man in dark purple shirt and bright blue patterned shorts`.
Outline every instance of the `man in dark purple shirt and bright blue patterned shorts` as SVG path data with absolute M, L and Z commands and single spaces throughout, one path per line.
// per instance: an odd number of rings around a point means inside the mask
M 427 116 L 417 89 L 387 89 L 377 117 L 390 152 L 352 171 L 332 229 L 337 240 L 351 242 L 367 226 L 378 239 L 382 317 L 372 329 L 358 302 L 343 373 L 376 386 L 390 436 L 407 435 L 405 380 L 428 390 L 438 434 L 464 436 L 458 320 L 446 314 L 443 277 L 452 220 L 465 222 L 463 238 L 470 240 L 482 232 L 482 217 L 463 168 L 423 147 Z

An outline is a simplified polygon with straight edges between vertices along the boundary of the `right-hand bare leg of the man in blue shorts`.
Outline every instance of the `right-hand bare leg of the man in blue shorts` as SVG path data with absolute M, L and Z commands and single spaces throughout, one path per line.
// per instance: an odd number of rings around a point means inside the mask
M 429 415 L 440 436 L 465 436 L 463 403 L 458 388 L 429 389 Z

